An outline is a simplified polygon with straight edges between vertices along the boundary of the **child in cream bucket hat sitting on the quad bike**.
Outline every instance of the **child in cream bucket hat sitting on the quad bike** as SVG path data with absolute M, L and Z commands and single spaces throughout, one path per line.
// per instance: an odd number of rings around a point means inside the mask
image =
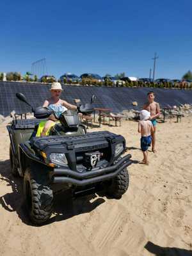
M 77 106 L 69 104 L 67 101 L 60 99 L 61 92 L 63 91 L 60 83 L 52 83 L 50 90 L 51 98 L 45 100 L 43 107 L 53 110 L 54 114 L 49 116 L 49 120 L 45 122 L 44 129 L 40 133 L 40 136 L 47 136 L 49 134 L 49 130 L 52 126 L 54 126 L 55 122 L 58 121 L 57 118 L 60 117 L 61 113 L 65 112 L 67 109 L 77 109 Z

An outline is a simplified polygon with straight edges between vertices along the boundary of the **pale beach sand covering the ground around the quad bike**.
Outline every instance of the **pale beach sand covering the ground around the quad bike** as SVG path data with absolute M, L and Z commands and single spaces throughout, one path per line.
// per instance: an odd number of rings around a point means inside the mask
M 126 138 L 133 163 L 122 199 L 91 195 L 71 202 L 62 193 L 42 227 L 26 216 L 22 180 L 10 174 L 8 132 L 1 125 L 0 255 L 192 255 L 192 119 L 157 125 L 157 154 L 148 152 L 149 166 L 137 163 L 137 125 L 89 129 Z

